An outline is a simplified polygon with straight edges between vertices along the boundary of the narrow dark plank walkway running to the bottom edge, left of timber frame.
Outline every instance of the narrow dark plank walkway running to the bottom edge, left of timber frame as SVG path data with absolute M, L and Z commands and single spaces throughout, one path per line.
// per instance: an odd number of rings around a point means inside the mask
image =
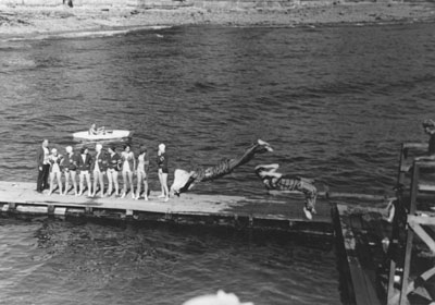
M 358 209 L 359 212 L 362 210 L 360 207 Z M 349 206 L 339 204 L 337 211 L 356 303 L 357 305 L 381 305 L 373 282 L 360 263 L 358 245 L 349 219 L 351 210 Z

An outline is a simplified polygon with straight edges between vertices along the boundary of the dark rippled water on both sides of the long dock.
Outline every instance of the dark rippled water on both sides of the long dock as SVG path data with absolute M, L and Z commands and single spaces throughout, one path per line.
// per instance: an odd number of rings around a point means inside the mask
M 42 137 L 62 149 L 97 122 L 134 130 L 134 148 L 166 143 L 172 170 L 213 164 L 257 138 L 275 148 L 196 192 L 262 194 L 252 167 L 278 162 L 333 191 L 382 193 L 399 144 L 425 141 L 421 121 L 435 119 L 434 24 L 2 41 L 0 69 L 1 180 L 35 181 Z M 137 230 L 0 225 L 0 300 L 176 304 L 226 288 L 258 304 L 339 302 L 332 249 Z

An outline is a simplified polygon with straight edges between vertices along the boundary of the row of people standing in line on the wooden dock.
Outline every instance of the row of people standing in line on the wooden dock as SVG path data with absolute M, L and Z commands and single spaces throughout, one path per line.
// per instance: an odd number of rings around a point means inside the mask
M 66 195 L 70 192 L 70 183 L 73 185 L 74 194 L 80 196 L 85 193 L 85 183 L 87 185 L 88 196 L 95 197 L 100 192 L 100 197 L 111 196 L 114 188 L 115 196 L 124 198 L 128 192 L 133 199 L 139 199 L 141 187 L 144 185 L 144 197 L 148 200 L 148 170 L 149 156 L 147 147 L 141 145 L 137 157 L 132 151 L 130 145 L 124 145 L 121 154 L 116 152 L 114 146 L 109 146 L 103 149 L 101 144 L 96 144 L 96 154 L 89 154 L 89 149 L 84 147 L 79 152 L 73 151 L 72 146 L 65 148 L 65 155 L 60 155 L 58 149 L 48 148 L 48 139 L 44 139 L 41 147 L 38 150 L 38 182 L 37 192 L 41 193 L 49 188 L 48 195 L 54 191 L 54 182 L 57 181 L 60 195 Z M 165 145 L 160 144 L 158 148 L 157 164 L 159 168 L 159 181 L 161 185 L 161 195 L 159 197 L 169 200 L 167 187 L 167 156 Z M 123 190 L 120 194 L 119 173 L 123 178 Z M 90 174 L 94 175 L 94 184 L 90 180 Z M 107 174 L 109 186 L 104 193 L 104 180 Z M 133 175 L 137 175 L 136 192 L 133 184 Z M 62 184 L 62 175 L 65 179 L 65 185 Z M 76 176 L 78 175 L 78 187 Z M 48 184 L 48 178 L 50 183 Z M 64 191 L 63 191 L 64 190 Z

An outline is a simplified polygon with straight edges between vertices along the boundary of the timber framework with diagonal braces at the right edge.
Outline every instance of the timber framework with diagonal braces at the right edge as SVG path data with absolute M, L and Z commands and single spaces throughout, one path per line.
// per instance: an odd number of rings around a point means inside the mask
M 432 252 L 435 254 L 435 239 L 434 231 L 435 227 L 435 212 L 431 210 L 419 209 L 419 195 L 421 194 L 435 194 L 435 183 L 421 182 L 421 172 L 424 171 L 435 172 L 435 161 L 413 160 L 412 166 L 407 166 L 408 150 L 410 148 L 422 149 L 426 148 L 425 144 L 406 143 L 402 144 L 399 162 L 399 174 L 398 174 L 398 200 L 396 215 L 393 221 L 393 236 L 388 255 L 390 259 L 389 264 L 389 279 L 388 279 L 388 293 L 387 304 L 388 305 L 408 305 L 409 294 L 415 293 L 426 298 L 430 302 L 434 302 L 434 296 L 426 291 L 425 283 L 433 276 L 435 276 L 435 267 L 432 266 L 427 270 L 423 271 L 413 280 L 410 279 L 411 274 L 411 256 L 414 244 L 414 236 L 417 235 Z M 403 199 L 403 183 L 406 173 L 411 171 L 411 186 L 409 190 L 409 199 Z M 432 229 L 431 229 L 432 228 Z M 405 241 L 400 239 L 403 234 L 400 232 L 405 231 Z M 405 244 L 405 248 L 401 247 Z M 405 251 L 405 253 L 403 253 Z M 397 267 L 402 267 L 402 277 L 399 281 L 399 290 L 395 288 L 395 277 Z M 432 304 L 432 303 L 431 303 Z

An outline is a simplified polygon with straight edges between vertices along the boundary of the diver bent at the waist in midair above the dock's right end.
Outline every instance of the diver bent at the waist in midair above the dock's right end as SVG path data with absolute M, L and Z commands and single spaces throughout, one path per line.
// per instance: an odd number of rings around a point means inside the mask
M 315 199 L 318 197 L 318 188 L 313 181 L 300 176 L 282 174 L 276 172 L 279 164 L 260 164 L 256 167 L 256 174 L 262 180 L 265 188 L 277 192 L 301 192 L 306 196 L 303 212 L 308 219 L 312 219 L 315 213 Z

